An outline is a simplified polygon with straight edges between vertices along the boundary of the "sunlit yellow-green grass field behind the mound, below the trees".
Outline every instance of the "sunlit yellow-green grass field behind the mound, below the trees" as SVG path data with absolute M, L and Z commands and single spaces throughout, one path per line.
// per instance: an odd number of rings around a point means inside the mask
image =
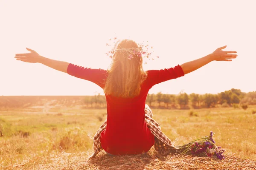
M 162 131 L 182 145 L 215 132 L 226 154 L 256 160 L 256 114 L 234 108 L 194 110 L 153 109 Z M 105 109 L 42 108 L 0 111 L 0 168 L 44 160 L 58 154 L 93 153 L 92 137 L 106 119 Z M 153 152 L 153 151 L 152 151 Z M 100 160 L 101 157 L 99 157 Z M 152 159 L 153 160 L 153 159 Z M 154 161 L 154 160 L 153 160 Z M 11 168 L 12 169 L 12 168 Z

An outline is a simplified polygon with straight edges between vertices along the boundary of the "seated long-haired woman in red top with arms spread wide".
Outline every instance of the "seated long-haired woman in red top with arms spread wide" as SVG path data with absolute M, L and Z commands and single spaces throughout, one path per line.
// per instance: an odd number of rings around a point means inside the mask
M 145 107 L 150 88 L 160 82 L 182 77 L 211 61 L 232 61 L 236 58 L 237 55 L 233 54 L 236 51 L 222 51 L 224 48 L 226 46 L 174 68 L 149 71 L 143 70 L 140 47 L 132 40 L 122 40 L 117 45 L 108 70 L 48 59 L 29 48 L 26 49 L 30 53 L 16 54 L 15 58 L 23 62 L 39 62 L 99 85 L 106 96 L 107 120 L 94 136 L 94 155 L 102 148 L 111 155 L 134 155 L 147 152 L 153 145 L 155 148 L 171 146 L 159 125 L 151 119 L 151 110 Z

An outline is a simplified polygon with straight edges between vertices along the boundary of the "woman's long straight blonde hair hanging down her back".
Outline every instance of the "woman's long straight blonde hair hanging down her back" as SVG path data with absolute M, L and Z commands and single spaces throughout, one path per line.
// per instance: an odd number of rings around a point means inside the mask
M 147 77 L 143 70 L 143 59 L 141 56 L 133 55 L 127 49 L 138 49 L 133 40 L 122 40 L 116 47 L 108 77 L 105 82 L 104 93 L 122 98 L 138 96 L 141 91 L 141 84 Z

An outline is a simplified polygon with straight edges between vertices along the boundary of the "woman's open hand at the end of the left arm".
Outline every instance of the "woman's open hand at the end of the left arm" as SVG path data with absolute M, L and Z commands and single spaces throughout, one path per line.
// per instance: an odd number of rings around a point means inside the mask
M 26 48 L 30 53 L 23 53 L 23 54 L 15 54 L 16 60 L 23 61 L 23 62 L 31 62 L 37 63 L 40 62 L 42 56 L 40 56 L 37 52 L 32 49 Z

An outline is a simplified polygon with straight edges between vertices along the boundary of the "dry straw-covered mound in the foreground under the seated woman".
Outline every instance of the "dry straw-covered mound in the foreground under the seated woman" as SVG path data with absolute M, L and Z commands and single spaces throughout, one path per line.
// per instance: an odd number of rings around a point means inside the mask
M 87 159 L 89 153 L 60 153 L 5 167 L 5 170 L 255 170 L 256 161 L 227 156 L 208 157 L 161 155 L 151 149 L 144 155 L 108 156 Z

